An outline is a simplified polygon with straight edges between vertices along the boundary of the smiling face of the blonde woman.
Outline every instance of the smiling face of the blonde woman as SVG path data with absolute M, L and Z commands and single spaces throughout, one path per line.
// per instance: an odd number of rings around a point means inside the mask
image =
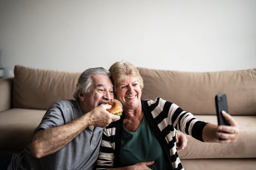
M 136 109 L 140 104 L 141 94 L 137 77 L 127 76 L 121 83 L 116 84 L 116 97 L 123 108 Z

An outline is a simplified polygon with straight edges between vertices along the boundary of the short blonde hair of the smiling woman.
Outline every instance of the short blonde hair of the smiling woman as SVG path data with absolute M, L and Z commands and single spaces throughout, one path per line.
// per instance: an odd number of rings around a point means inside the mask
M 140 85 L 140 89 L 143 89 L 144 87 L 143 79 L 139 73 L 139 70 L 128 61 L 115 62 L 114 64 L 112 64 L 112 66 L 110 66 L 109 71 L 111 72 L 111 79 L 114 84 L 115 93 L 116 93 L 116 84 L 121 83 L 121 81 L 123 81 L 123 79 L 128 75 L 137 77 Z

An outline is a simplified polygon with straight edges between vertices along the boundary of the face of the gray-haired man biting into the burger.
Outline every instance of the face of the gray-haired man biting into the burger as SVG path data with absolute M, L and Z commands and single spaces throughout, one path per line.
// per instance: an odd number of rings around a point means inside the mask
M 90 92 L 88 94 L 82 94 L 82 97 L 79 94 L 80 106 L 84 113 L 90 112 L 101 103 L 107 103 L 114 99 L 114 86 L 107 75 L 93 75 L 92 80 L 93 84 L 89 88 Z

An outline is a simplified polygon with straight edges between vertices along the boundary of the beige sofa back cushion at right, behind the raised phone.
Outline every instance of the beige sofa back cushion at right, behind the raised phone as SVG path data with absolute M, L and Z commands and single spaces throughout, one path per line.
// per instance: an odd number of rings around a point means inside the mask
M 138 70 L 144 81 L 144 100 L 161 97 L 193 114 L 215 115 L 214 97 L 226 93 L 231 115 L 256 115 L 256 68 L 205 73 Z

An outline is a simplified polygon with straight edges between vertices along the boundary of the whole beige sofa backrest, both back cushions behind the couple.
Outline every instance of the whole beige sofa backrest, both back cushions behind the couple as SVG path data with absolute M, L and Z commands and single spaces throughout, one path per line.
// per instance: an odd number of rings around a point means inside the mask
M 256 115 L 256 68 L 204 73 L 138 70 L 144 81 L 144 100 L 161 97 L 193 114 L 215 115 L 214 97 L 225 92 L 230 114 Z M 13 106 L 48 109 L 55 101 L 72 99 L 80 74 L 16 65 Z

